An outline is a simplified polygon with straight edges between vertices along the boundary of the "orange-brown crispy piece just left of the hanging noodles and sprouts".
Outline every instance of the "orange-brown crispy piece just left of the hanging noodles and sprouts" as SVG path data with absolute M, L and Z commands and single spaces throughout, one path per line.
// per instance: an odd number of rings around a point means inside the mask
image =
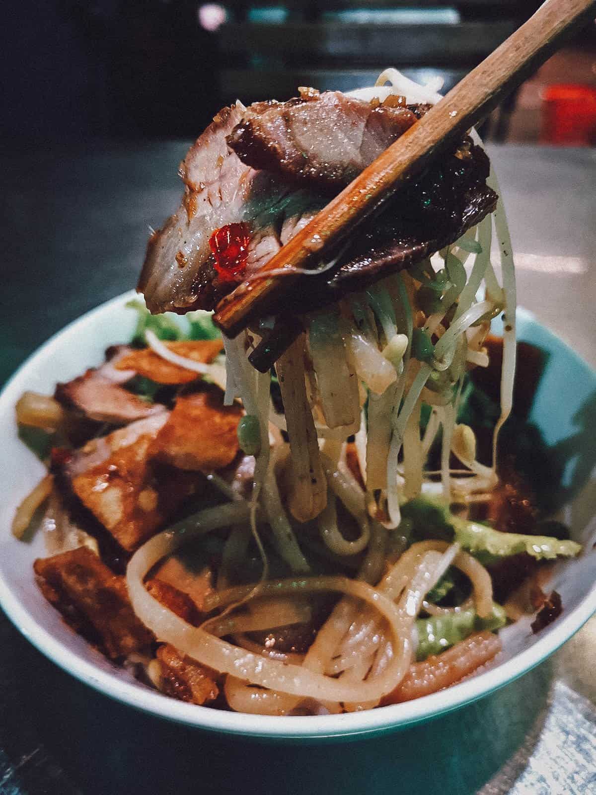
M 232 463 L 239 449 L 238 405 L 223 405 L 220 390 L 181 395 L 149 455 L 180 469 L 209 472 Z

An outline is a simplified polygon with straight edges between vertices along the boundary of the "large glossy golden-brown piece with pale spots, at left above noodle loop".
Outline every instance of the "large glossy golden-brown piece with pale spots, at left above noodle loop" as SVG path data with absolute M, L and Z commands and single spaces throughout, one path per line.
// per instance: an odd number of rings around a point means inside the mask
M 149 448 L 159 427 L 156 422 L 131 444 L 107 441 L 110 454 L 71 480 L 72 491 L 83 505 L 129 552 L 152 536 L 203 485 L 195 473 L 156 466 L 150 460 Z M 125 441 L 126 436 L 121 433 L 119 440 Z M 101 443 L 103 440 L 98 440 Z

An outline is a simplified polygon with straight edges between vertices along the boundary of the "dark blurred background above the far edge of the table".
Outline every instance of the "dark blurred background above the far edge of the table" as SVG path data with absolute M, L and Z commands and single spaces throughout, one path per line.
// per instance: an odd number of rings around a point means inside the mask
M 3 3 L 2 137 L 192 138 L 224 103 L 371 84 L 386 66 L 449 89 L 532 0 L 20 0 Z M 596 143 L 596 27 L 528 80 L 493 141 Z

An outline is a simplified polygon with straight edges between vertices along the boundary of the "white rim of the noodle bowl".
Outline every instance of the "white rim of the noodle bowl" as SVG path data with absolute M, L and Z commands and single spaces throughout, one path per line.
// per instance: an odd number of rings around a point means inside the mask
M 62 335 L 79 324 L 84 326 L 92 318 L 108 312 L 110 309 L 118 308 L 118 306 L 124 308 L 126 301 L 135 295 L 135 291 L 130 290 L 100 304 L 72 320 L 38 347 L 18 367 L 0 392 L 0 412 L 14 410 L 14 405 L 23 388 L 21 382 L 36 370 L 38 363 L 52 354 L 52 349 L 59 343 Z M 532 312 L 523 308 L 518 308 L 517 312 L 518 317 L 540 325 L 540 328 L 544 329 L 551 339 L 563 345 L 567 355 L 573 357 L 578 364 L 585 368 L 596 384 L 596 372 L 567 343 L 540 324 Z M 423 696 L 403 704 L 393 704 L 343 715 L 296 715 L 292 717 L 246 715 L 239 712 L 224 712 L 209 707 L 200 707 L 196 704 L 186 704 L 153 691 L 140 682 L 125 681 L 118 676 L 116 669 L 114 669 L 114 673 L 110 673 L 91 661 L 73 655 L 67 645 L 55 638 L 29 613 L 20 602 L 17 593 L 10 588 L 10 584 L 5 580 L 2 572 L 0 572 L 0 607 L 17 630 L 61 669 L 104 695 L 141 712 L 148 712 L 176 723 L 184 723 L 188 727 L 228 735 L 244 735 L 261 739 L 329 739 L 379 734 L 420 723 L 471 704 L 505 684 L 509 684 L 517 677 L 521 677 L 559 649 L 590 619 L 590 616 L 596 611 L 596 582 L 590 591 L 582 597 L 579 604 L 551 626 L 550 631 L 543 638 L 539 638 L 530 648 L 501 662 L 495 668 L 488 669 L 484 673 L 430 696 Z

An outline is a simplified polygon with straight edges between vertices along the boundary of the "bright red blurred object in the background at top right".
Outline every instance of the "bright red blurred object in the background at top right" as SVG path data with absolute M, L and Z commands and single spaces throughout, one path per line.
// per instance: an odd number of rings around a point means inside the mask
M 596 145 L 596 88 L 560 83 L 544 90 L 540 143 Z

